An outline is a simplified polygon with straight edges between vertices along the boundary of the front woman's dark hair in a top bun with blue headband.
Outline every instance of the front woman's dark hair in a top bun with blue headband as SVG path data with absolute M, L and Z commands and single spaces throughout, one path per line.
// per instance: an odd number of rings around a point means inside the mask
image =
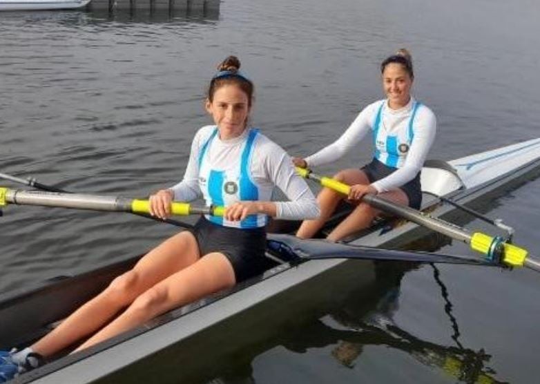
M 229 56 L 218 66 L 218 73 L 210 81 L 207 97 L 210 102 L 216 90 L 227 84 L 234 84 L 246 93 L 248 105 L 251 106 L 255 87 L 250 79 L 240 73 L 240 60 L 236 56 Z

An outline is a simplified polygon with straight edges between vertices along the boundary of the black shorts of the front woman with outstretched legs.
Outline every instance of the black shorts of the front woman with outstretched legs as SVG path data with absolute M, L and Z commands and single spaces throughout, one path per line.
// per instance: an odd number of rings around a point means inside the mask
M 240 229 L 224 227 L 202 216 L 193 228 L 201 256 L 211 252 L 225 255 L 234 269 L 236 282 L 256 276 L 267 267 L 264 252 L 267 231 L 264 227 Z

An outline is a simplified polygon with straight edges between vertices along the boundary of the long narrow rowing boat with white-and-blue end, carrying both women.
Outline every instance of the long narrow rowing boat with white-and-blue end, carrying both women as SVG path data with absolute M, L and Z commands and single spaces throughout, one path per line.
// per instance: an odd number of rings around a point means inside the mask
M 537 177 L 539 173 L 540 139 L 450 162 L 429 162 L 422 173 L 423 211 L 429 212 L 433 218 L 456 220 L 461 216 L 457 213 L 456 205 L 445 203 L 441 196 L 453 203 L 467 204 L 469 207 L 481 206 L 531 177 Z M 427 229 L 412 222 L 392 220 L 380 222 L 359 233 L 349 239 L 349 244 L 398 249 L 426 233 Z M 270 236 L 271 240 L 278 242 L 285 237 L 287 235 Z M 302 243 L 302 240 L 289 240 L 295 244 Z M 338 246 L 340 244 L 336 244 Z M 336 253 L 339 253 L 336 249 Z M 35 287 L 3 294 L 0 296 L 0 347 L 28 345 L 49 332 L 81 303 L 104 289 L 115 276 L 133 266 L 139 257 L 117 260 L 93 271 L 76 276 L 59 276 Z M 260 313 L 257 309 L 268 307 L 269 303 L 279 301 L 287 292 L 343 267 L 345 262 L 347 260 L 344 258 L 304 262 L 276 260 L 274 254 L 268 260 L 269 269 L 261 276 L 191 305 L 174 309 L 84 351 L 61 355 L 55 361 L 23 374 L 18 381 L 114 382 L 115 378 L 111 377 L 118 378 L 117 375 L 144 365 L 148 357 L 166 354 L 171 349 L 177 350 L 189 338 L 213 327 L 226 329 L 226 325 L 234 323 L 240 314 Z M 356 279 L 358 286 L 367 286 L 376 279 L 376 262 L 355 260 L 354 269 L 361 271 Z M 144 372 L 148 371 L 137 369 L 139 380 L 145 379 Z M 159 376 L 159 372 L 153 370 L 151 374 L 151 379 L 159 381 L 155 376 Z

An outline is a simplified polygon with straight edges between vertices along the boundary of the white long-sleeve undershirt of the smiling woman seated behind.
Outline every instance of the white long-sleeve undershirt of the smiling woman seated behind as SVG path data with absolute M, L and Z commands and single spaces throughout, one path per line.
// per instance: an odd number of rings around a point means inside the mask
M 308 166 L 314 167 L 334 162 L 355 148 L 370 129 L 375 130 L 374 124 L 381 103 L 383 103 L 379 128 L 383 130 L 381 133 L 399 135 L 407 131 L 415 103 L 414 98 L 411 97 L 409 103 L 400 109 L 389 108 L 387 100 L 379 100 L 365 107 L 338 140 L 307 157 L 305 161 Z M 423 104 L 418 107 L 412 128 L 414 138 L 403 164 L 398 165 L 394 173 L 372 183 L 378 192 L 398 188 L 412 180 L 421 171 L 436 133 L 436 117 L 430 108 Z

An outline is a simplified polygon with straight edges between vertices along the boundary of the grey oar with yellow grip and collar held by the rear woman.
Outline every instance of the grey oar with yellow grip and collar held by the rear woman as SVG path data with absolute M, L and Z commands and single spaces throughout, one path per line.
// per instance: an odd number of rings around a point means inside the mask
M 296 171 L 302 177 L 316 180 L 322 186 L 326 186 L 344 195 L 349 195 L 351 187 L 343 182 L 338 182 L 338 180 L 334 180 L 331 177 L 317 175 L 309 169 L 296 167 Z M 362 201 L 386 213 L 399 216 L 432 231 L 465 242 L 474 251 L 482 253 L 490 262 L 511 267 L 528 267 L 535 271 L 540 271 L 540 262 L 528 257 L 528 251 L 526 249 L 505 242 L 505 239 L 499 236 L 493 237 L 481 232 L 470 233 L 470 231 L 455 224 L 433 218 L 421 211 L 416 211 L 416 209 L 378 198 L 376 195 L 364 195 Z

